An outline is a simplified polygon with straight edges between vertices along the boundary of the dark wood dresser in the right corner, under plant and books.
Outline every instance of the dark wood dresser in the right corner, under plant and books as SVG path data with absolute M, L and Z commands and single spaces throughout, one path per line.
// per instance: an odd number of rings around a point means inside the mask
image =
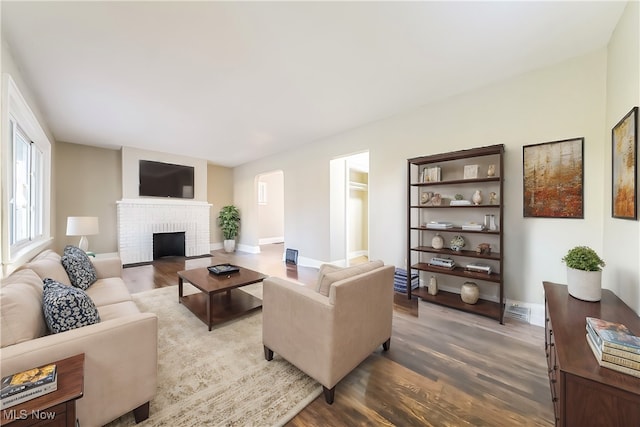
M 561 427 L 640 426 L 640 378 L 602 368 L 586 341 L 587 316 L 625 324 L 640 334 L 640 318 L 613 292 L 586 302 L 566 285 L 544 282 L 545 349 L 549 383 Z

